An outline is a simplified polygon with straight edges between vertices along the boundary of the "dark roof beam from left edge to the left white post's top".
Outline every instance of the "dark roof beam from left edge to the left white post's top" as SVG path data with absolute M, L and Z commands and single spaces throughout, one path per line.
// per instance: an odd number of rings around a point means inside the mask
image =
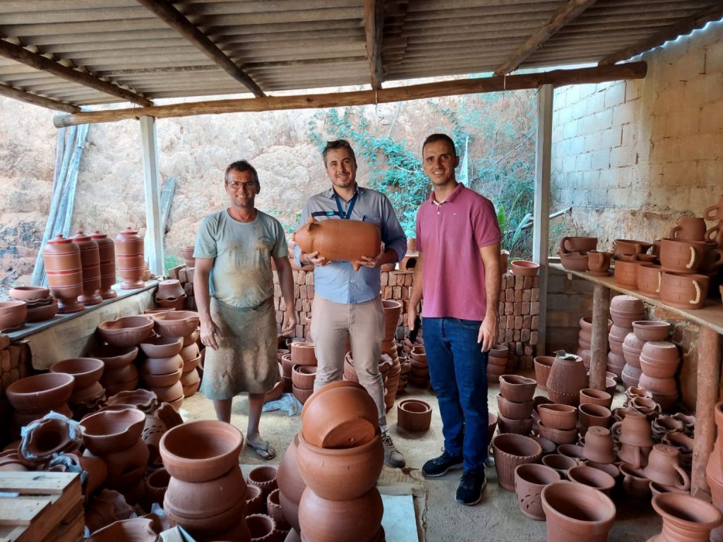
M 153 106 L 153 102 L 145 98 L 145 96 L 132 93 L 130 90 L 121 88 L 111 82 L 103 81 L 103 79 L 99 79 L 88 72 L 80 72 L 80 70 L 63 66 L 63 64 L 60 64 L 57 61 L 47 59 L 43 55 L 28 51 L 27 49 L 17 46 L 14 43 L 10 43 L 4 39 L 0 39 L 0 56 L 4 56 L 6 59 L 21 62 L 26 66 L 30 66 L 31 68 L 38 69 L 42 72 L 48 72 L 60 77 L 61 79 L 77 83 L 78 85 L 93 88 L 101 93 L 117 96 L 118 98 L 123 98 L 131 103 L 137 103 L 139 106 Z

